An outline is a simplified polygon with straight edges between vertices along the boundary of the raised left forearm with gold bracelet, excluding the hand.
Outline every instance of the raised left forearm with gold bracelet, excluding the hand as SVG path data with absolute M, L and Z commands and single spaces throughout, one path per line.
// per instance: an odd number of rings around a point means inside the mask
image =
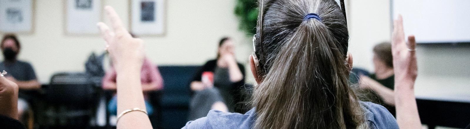
M 125 110 L 140 108 L 145 109 L 140 80 L 140 69 L 124 67 L 118 71 L 118 114 Z M 152 129 L 149 117 L 142 112 L 134 111 L 123 115 L 118 122 L 118 129 Z

